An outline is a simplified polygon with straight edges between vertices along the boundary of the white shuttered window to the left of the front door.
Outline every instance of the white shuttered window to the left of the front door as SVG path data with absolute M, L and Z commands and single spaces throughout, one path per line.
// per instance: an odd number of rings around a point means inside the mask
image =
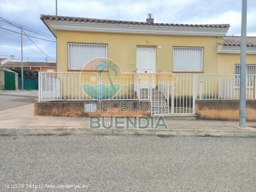
M 108 45 L 68 43 L 69 69 L 83 69 L 90 60 L 96 58 L 108 58 Z M 91 69 L 92 66 L 88 68 Z

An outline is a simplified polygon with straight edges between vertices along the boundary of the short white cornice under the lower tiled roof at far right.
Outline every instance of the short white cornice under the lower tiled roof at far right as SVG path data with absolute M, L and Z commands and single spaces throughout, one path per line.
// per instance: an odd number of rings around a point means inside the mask
M 240 54 L 240 46 L 224 46 L 222 44 L 217 44 L 217 53 L 230 53 L 230 54 Z M 246 47 L 247 54 L 256 54 L 255 46 Z

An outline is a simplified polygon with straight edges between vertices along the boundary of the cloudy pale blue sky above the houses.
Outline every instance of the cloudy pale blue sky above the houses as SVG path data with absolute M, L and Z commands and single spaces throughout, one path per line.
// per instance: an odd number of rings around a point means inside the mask
M 256 36 L 256 0 L 247 1 L 247 36 Z M 241 7 L 242 0 L 58 0 L 58 15 L 145 21 L 147 13 L 154 13 L 155 22 L 160 23 L 229 23 L 227 35 L 240 35 Z M 0 0 L 0 17 L 51 34 L 40 20 L 40 14 L 54 15 L 55 0 Z M 2 22 L 0 27 L 20 32 Z M 32 40 L 55 60 L 54 42 Z M 0 28 L 0 55 L 15 55 L 15 59 L 20 59 L 20 34 Z M 26 36 L 23 37 L 24 59 L 44 61 L 45 57 Z

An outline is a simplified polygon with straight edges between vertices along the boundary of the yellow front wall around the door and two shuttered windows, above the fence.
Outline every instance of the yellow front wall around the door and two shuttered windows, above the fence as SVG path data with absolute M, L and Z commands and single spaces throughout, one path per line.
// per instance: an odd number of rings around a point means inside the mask
M 68 70 L 68 43 L 108 44 L 108 58 L 114 60 L 123 72 L 136 69 L 136 47 L 156 47 L 156 71 L 172 72 L 173 46 L 203 47 L 203 73 L 217 73 L 217 43 L 221 37 L 192 37 L 145 34 L 90 33 L 57 31 L 57 60 L 59 72 Z M 162 49 L 157 46 L 161 45 Z

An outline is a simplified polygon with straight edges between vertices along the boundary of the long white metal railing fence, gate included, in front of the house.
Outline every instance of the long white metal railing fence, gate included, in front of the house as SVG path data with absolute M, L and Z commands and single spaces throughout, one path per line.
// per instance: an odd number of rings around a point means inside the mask
M 195 100 L 239 99 L 239 75 L 173 73 L 39 73 L 39 101 L 149 100 L 155 114 L 195 114 Z M 246 98 L 256 99 L 256 75 Z

